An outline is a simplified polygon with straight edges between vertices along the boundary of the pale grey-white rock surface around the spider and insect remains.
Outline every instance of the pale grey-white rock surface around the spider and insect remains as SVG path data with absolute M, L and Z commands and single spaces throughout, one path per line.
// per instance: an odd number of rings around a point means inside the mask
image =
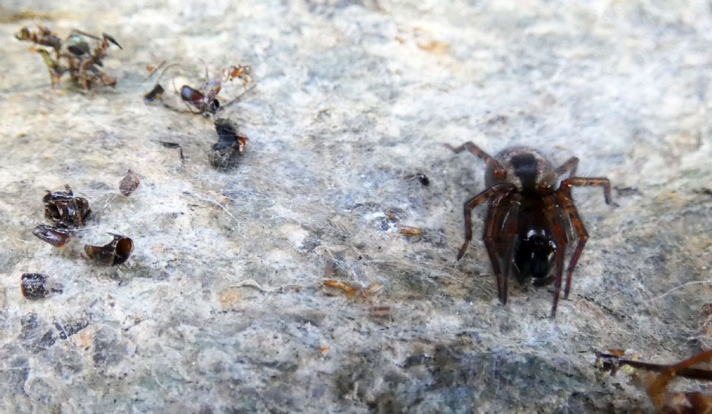
M 595 351 L 712 344 L 706 1 L 10 0 L 0 21 L 3 412 L 635 412 Z M 13 38 L 36 23 L 114 36 L 115 90 L 52 89 Z M 142 102 L 163 60 L 194 83 L 201 60 L 252 66 L 220 115 L 249 138 L 238 165 L 209 165 L 210 120 Z M 498 303 L 483 211 L 455 260 L 484 166 L 442 144 L 466 140 L 618 189 L 575 192 L 590 241 L 554 320 L 551 288 Z M 55 248 L 31 230 L 65 184 L 93 216 Z M 134 240 L 124 265 L 83 258 L 107 232 Z M 323 287 L 329 263 L 372 290 Z M 24 299 L 24 272 L 61 292 Z

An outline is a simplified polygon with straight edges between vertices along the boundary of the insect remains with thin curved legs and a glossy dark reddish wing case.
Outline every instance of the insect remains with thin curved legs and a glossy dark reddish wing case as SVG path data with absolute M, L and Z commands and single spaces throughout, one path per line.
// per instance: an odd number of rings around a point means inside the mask
M 156 84 L 154 85 L 152 90 L 150 90 L 143 96 L 143 101 L 145 103 L 161 100 L 163 102 L 163 105 L 169 108 L 170 110 L 175 110 L 177 112 L 186 112 L 178 110 L 175 107 L 168 105 L 167 102 L 163 101 L 163 94 L 165 90 L 164 87 L 160 84 L 161 78 L 169 68 L 172 68 L 176 65 L 177 64 L 175 63 L 172 65 L 167 65 L 161 71 L 161 74 L 159 75 Z M 155 70 L 152 70 L 152 74 L 156 73 L 156 71 L 157 68 Z M 253 86 L 248 87 L 248 84 L 252 81 L 250 73 L 251 68 L 249 66 L 234 65 L 224 68 L 220 75 L 216 78 L 211 78 L 208 73 L 208 69 L 205 68 L 205 80 L 203 81 L 202 85 L 197 88 L 192 87 L 190 85 L 182 85 L 180 87 L 180 90 L 178 90 L 174 84 L 173 90 L 180 97 L 180 100 L 182 100 L 182 102 L 186 105 L 186 107 L 188 108 L 188 112 L 193 114 L 201 114 L 205 117 L 210 117 L 212 115 L 216 115 L 219 110 L 229 107 L 230 105 L 239 101 L 242 95 L 251 90 Z M 218 100 L 218 94 L 222 90 L 222 87 L 225 83 L 232 82 L 236 79 L 242 80 L 242 87 L 244 88 L 244 92 L 235 97 L 234 100 L 231 100 L 225 105 L 222 105 L 220 103 L 220 100 Z

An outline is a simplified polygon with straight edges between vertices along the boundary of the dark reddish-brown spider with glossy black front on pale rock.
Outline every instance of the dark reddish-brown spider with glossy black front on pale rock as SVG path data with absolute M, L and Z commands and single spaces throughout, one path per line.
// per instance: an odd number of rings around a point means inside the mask
M 482 240 L 497 277 L 500 302 L 507 303 L 507 282 L 511 273 L 520 283 L 527 278 L 533 278 L 535 286 L 554 282 L 551 316 L 555 317 L 567 244 L 577 241 L 566 275 L 566 298 L 574 268 L 588 240 L 571 189 L 574 186 L 601 186 L 606 203 L 611 204 L 608 179 L 576 176 L 579 159 L 575 156 L 554 169 L 542 154 L 526 147 L 511 147 L 496 157 L 472 142 L 459 147 L 446 144 L 446 147 L 455 153 L 467 150 L 487 163 L 487 189 L 464 205 L 465 243 L 457 260 L 462 258 L 472 240 L 472 210 L 489 201 Z M 555 189 L 559 177 L 566 172 L 569 176 Z M 552 268 L 554 273 L 550 276 Z

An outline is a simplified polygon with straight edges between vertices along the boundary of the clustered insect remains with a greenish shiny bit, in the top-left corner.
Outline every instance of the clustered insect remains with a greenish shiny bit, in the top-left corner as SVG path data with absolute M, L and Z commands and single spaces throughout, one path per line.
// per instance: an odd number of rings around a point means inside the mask
M 103 33 L 102 37 L 93 36 L 83 31 L 74 30 L 65 41 L 44 26 L 36 30 L 28 27 L 22 28 L 15 34 L 19 41 L 29 41 L 41 48 L 35 49 L 39 53 L 49 71 L 52 86 L 59 83 L 65 74 L 83 90 L 90 90 L 97 86 L 116 85 L 115 78 L 110 77 L 102 70 L 103 58 L 111 45 L 122 48 L 112 36 Z M 94 44 L 90 45 L 90 40 Z

